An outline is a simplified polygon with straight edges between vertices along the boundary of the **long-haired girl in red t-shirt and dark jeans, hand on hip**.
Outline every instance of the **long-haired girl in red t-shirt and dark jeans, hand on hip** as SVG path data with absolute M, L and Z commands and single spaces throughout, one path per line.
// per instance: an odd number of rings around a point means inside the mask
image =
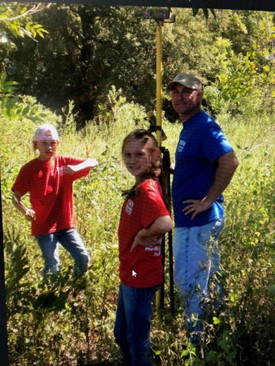
M 163 281 L 161 241 L 172 221 L 159 182 L 160 150 L 154 135 L 144 129 L 131 132 L 123 141 L 122 157 L 135 184 L 124 192 L 118 229 L 121 283 L 114 334 L 125 365 L 149 366 L 152 301 Z

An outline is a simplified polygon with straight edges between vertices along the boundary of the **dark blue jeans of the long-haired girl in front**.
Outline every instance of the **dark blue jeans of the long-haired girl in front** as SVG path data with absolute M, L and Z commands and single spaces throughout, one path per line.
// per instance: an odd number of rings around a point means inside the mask
M 158 288 L 120 284 L 114 334 L 126 366 L 153 364 L 150 328 L 152 301 Z

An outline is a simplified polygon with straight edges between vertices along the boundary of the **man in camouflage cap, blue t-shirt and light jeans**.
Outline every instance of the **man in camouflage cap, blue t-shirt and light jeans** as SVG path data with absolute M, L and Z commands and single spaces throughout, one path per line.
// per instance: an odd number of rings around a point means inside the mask
M 181 73 L 167 90 L 183 125 L 172 184 L 175 283 L 184 305 L 186 329 L 197 343 L 203 335 L 210 281 L 220 267 L 222 193 L 239 162 L 220 126 L 201 109 L 201 81 L 191 73 Z

